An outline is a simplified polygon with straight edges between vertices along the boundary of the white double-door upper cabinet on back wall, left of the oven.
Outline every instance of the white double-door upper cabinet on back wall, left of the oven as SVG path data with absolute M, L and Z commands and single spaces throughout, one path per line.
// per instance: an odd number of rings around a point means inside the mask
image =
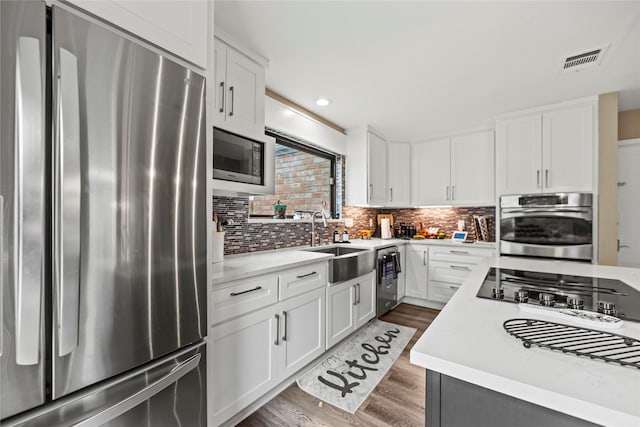
M 413 205 L 493 205 L 494 156 L 493 131 L 413 144 Z

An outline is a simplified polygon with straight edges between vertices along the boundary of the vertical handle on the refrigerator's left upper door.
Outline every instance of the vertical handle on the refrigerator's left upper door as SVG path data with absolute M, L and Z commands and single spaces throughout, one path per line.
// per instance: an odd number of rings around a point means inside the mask
M 13 263 L 15 271 L 16 364 L 40 359 L 42 311 L 43 187 L 36 178 L 43 164 L 43 87 L 40 40 L 18 37 L 15 82 L 15 194 Z

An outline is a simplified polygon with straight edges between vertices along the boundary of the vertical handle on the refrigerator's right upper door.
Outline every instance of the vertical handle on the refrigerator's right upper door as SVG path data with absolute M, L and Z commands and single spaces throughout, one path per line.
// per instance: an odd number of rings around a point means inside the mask
M 78 346 L 80 310 L 80 105 L 78 59 L 59 51 L 54 191 L 58 356 Z

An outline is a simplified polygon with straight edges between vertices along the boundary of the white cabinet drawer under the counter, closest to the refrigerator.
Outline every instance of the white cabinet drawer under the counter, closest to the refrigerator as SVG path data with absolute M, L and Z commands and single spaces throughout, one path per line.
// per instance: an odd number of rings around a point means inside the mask
M 215 325 L 276 302 L 278 276 L 275 274 L 238 281 L 213 291 L 210 301 L 213 306 L 211 322 Z

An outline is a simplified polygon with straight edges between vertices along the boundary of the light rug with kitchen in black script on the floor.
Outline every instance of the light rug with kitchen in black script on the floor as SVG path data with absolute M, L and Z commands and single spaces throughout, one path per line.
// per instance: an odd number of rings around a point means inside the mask
M 415 331 L 376 319 L 298 378 L 298 387 L 355 414 Z

